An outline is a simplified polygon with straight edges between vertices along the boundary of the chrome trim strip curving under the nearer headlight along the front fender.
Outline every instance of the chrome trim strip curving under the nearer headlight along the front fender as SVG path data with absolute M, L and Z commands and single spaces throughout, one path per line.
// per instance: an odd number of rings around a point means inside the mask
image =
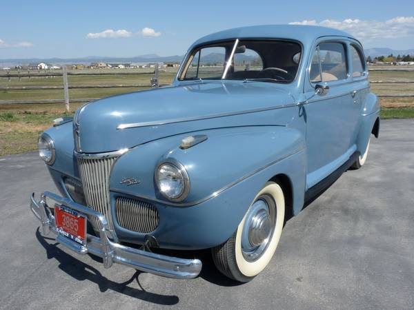
M 114 189 L 114 188 L 110 188 L 110 192 L 115 192 L 115 193 L 119 193 L 119 194 L 126 194 L 132 197 L 136 197 L 136 198 L 141 198 L 144 200 L 148 200 L 148 201 L 154 201 L 155 203 L 161 203 L 164 205 L 172 205 L 175 207 L 190 207 L 193 205 L 199 205 L 200 203 L 204 203 L 206 200 L 209 200 L 211 198 L 214 198 L 216 196 L 218 196 L 219 194 L 221 194 L 222 192 L 224 192 L 225 190 L 229 189 L 230 187 L 233 187 L 234 185 L 236 185 L 237 183 L 242 182 L 243 180 L 246 180 L 246 178 L 249 178 L 250 176 L 253 176 L 255 174 L 257 174 L 258 172 L 261 172 L 262 170 L 270 167 L 271 165 L 275 165 L 275 163 L 278 163 L 279 161 L 283 161 L 284 159 L 293 156 L 299 152 L 301 152 L 304 149 L 304 147 L 301 147 L 299 149 L 295 149 L 295 151 L 291 152 L 290 154 L 283 156 L 281 158 L 278 158 L 276 161 L 272 161 L 262 167 L 259 167 L 258 169 L 255 169 L 253 172 L 250 172 L 249 174 L 246 174 L 244 176 L 242 176 L 241 178 L 238 178 L 237 180 L 233 181 L 232 183 L 229 183 L 228 185 L 225 185 L 224 187 L 221 187 L 221 189 L 218 189 L 216 192 L 213 192 L 212 194 L 201 198 L 199 200 L 195 200 L 193 202 L 190 203 L 172 203 L 171 201 L 167 201 L 167 200 L 161 200 L 161 199 L 157 199 L 157 198 L 153 198 L 153 197 L 149 197 L 149 196 L 143 196 L 143 195 L 137 195 L 137 193 L 133 193 L 133 192 L 128 192 L 128 191 L 121 191 L 119 189 Z

